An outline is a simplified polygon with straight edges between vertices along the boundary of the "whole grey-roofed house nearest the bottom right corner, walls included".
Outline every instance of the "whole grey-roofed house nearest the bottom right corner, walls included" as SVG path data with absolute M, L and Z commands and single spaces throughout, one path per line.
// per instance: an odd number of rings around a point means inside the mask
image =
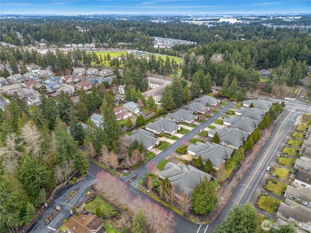
M 311 230 L 311 208 L 296 201 L 286 198 L 280 203 L 276 216 L 287 222 L 296 222 L 296 226 L 303 230 Z

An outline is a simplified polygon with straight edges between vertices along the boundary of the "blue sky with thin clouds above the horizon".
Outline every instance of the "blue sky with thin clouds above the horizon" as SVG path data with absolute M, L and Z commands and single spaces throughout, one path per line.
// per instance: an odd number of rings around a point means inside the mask
M 0 0 L 0 14 L 311 14 L 311 0 Z

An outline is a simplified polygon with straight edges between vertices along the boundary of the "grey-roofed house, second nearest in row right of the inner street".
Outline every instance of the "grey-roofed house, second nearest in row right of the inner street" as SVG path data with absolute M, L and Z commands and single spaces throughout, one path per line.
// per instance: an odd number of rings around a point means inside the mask
M 225 161 L 231 157 L 233 151 L 231 148 L 208 141 L 206 143 L 196 142 L 188 147 L 188 153 L 196 158 L 201 155 L 204 164 L 210 159 L 213 168 L 216 170 L 219 170 L 225 164 Z

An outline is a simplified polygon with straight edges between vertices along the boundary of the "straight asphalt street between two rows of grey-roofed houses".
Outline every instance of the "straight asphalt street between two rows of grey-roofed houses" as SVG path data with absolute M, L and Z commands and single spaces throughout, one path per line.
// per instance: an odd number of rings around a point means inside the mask
M 167 156 L 169 156 L 170 154 L 172 154 L 178 147 L 180 147 L 182 145 L 182 142 L 184 140 L 189 140 L 191 138 L 193 138 L 196 134 L 200 133 L 200 130 L 204 130 L 207 126 L 209 126 L 211 123 L 213 123 L 216 119 L 218 119 L 220 116 L 222 116 L 223 114 L 225 114 L 225 112 L 230 109 L 230 107 L 233 106 L 233 103 L 230 101 L 227 101 L 227 105 L 225 107 L 223 107 L 221 110 L 219 110 L 217 113 L 215 113 L 213 116 L 211 116 L 210 118 L 208 118 L 205 122 L 201 123 L 200 125 L 198 125 L 197 127 L 195 127 L 194 129 L 192 129 L 189 133 L 185 134 L 183 137 L 181 137 L 180 139 L 178 139 L 177 141 L 175 141 L 171 146 L 169 146 L 167 149 L 161 151 L 160 153 L 158 153 L 154 158 L 152 158 L 150 161 L 153 161 L 155 164 L 158 164 L 160 161 L 162 161 L 163 159 L 165 159 Z M 143 176 L 148 172 L 146 169 L 148 163 L 138 167 L 137 169 L 135 169 L 135 171 L 133 171 L 131 173 L 132 175 L 136 175 L 136 179 L 131 182 L 131 186 L 132 187 L 136 187 L 138 181 L 143 178 Z M 121 180 L 123 181 L 127 181 L 129 180 L 130 177 L 124 177 L 121 178 Z

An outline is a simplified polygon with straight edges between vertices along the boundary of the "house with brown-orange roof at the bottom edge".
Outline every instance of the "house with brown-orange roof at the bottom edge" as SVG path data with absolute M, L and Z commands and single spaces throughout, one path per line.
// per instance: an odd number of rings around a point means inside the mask
M 106 233 L 103 219 L 96 215 L 70 217 L 65 227 L 69 233 Z

